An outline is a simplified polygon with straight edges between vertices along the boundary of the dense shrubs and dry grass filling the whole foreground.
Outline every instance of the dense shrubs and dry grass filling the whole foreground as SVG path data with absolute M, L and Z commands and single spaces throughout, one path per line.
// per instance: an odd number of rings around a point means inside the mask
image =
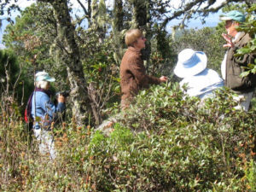
M 229 90 L 201 103 L 177 84 L 143 90 L 109 137 L 55 129 L 56 160 L 38 154 L 21 119 L 1 115 L 2 191 L 255 191 L 255 110 Z

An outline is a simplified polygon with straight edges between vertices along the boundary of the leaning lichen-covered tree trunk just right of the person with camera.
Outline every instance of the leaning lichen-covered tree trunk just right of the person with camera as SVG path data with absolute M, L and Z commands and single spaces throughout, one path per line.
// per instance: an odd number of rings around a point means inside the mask
M 75 41 L 75 28 L 71 23 L 67 0 L 44 1 L 51 3 L 57 20 L 58 44 L 66 53 L 67 78 L 69 80 L 73 102 L 73 119 L 77 125 L 84 125 L 86 109 L 89 107 L 88 91 L 84 78 L 83 66 L 80 61 L 79 46 Z

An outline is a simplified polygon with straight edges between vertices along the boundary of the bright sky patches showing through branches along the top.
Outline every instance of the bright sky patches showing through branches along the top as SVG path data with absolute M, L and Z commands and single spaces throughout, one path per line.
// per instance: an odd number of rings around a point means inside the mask
M 165 1 L 165 0 L 163 0 Z M 217 7 L 218 5 L 220 5 L 221 3 L 223 3 L 225 0 L 217 0 L 216 3 L 214 3 L 212 5 L 212 7 Z M 15 1 L 12 0 L 12 3 L 14 3 Z M 25 9 L 26 7 L 30 6 L 32 3 L 36 3 L 36 0 L 18 0 L 17 4 L 20 6 L 21 9 Z M 76 0 L 71 0 L 71 3 L 73 3 L 73 9 L 80 9 L 79 3 L 77 3 Z M 106 5 L 109 8 L 113 7 L 113 0 L 107 0 L 106 1 Z M 180 1 L 179 0 L 173 0 L 172 1 L 172 6 L 174 8 L 178 8 L 180 5 Z M 205 6 L 204 4 L 202 6 Z M 74 13 L 76 14 L 76 13 Z M 18 15 L 18 13 L 14 13 L 14 15 Z M 217 26 L 218 25 L 218 16 L 220 15 L 220 12 L 216 13 L 216 14 L 210 14 L 207 19 L 206 19 L 206 23 L 204 25 L 201 24 L 201 20 L 196 19 L 196 20 L 190 20 L 189 21 L 189 28 L 202 28 L 205 26 Z M 6 18 L 7 15 L 3 15 L 0 16 L 0 19 Z M 15 17 L 15 16 L 14 16 Z M 168 23 L 166 30 L 167 32 L 172 32 L 172 26 L 177 25 L 178 20 L 172 20 L 171 22 Z M 8 25 L 8 23 L 6 21 L 3 20 L 3 25 L 2 28 L 0 29 L 0 49 L 3 49 L 3 42 L 2 42 L 2 37 L 3 37 L 3 32 L 4 32 L 4 28 L 5 26 Z

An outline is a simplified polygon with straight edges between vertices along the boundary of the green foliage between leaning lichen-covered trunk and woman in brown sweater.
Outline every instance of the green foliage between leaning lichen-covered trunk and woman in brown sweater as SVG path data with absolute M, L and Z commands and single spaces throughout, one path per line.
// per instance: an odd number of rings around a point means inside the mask
M 119 101 L 119 65 L 113 59 L 112 36 L 101 39 L 95 30 L 79 29 L 79 47 L 84 75 L 88 82 L 90 101 L 99 116 L 99 124 L 105 115 L 104 110 Z

